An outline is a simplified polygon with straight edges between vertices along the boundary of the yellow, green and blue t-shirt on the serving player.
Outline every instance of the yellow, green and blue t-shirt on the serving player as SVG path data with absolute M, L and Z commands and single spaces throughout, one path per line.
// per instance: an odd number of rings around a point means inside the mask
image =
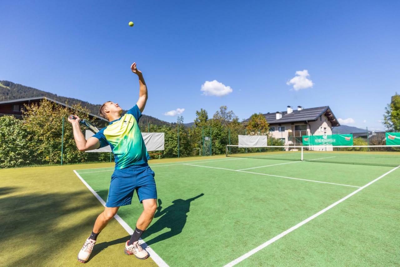
M 100 148 L 110 145 L 116 170 L 144 164 L 150 159 L 138 125 L 140 117 L 142 113 L 135 105 L 93 136 L 99 140 Z

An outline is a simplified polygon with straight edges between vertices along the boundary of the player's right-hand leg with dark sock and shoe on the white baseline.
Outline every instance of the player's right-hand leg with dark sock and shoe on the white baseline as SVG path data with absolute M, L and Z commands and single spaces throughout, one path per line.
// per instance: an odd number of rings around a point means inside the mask
M 140 214 L 140 217 L 136 222 L 136 229 L 134 230 L 132 237 L 130 240 L 126 241 L 125 244 L 126 255 L 135 255 L 138 259 L 147 259 L 149 257 L 148 252 L 139 245 L 139 238 L 144 230 L 146 230 L 150 225 L 156 210 L 156 199 L 143 200 L 143 212 Z

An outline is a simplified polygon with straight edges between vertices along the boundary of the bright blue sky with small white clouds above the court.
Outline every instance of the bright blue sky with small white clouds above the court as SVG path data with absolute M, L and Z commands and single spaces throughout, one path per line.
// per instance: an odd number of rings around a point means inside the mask
M 383 129 L 400 91 L 399 1 L 2 1 L 0 10 L 0 79 L 128 109 L 136 61 L 144 114 L 166 121 L 177 109 L 187 123 L 221 105 L 240 119 L 329 105 L 346 125 Z

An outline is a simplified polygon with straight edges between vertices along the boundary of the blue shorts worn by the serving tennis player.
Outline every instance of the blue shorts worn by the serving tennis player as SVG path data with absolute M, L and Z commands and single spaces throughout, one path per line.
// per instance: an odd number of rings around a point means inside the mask
M 149 198 L 157 199 L 154 172 L 147 163 L 114 170 L 108 189 L 106 207 L 131 204 L 135 189 L 140 203 Z

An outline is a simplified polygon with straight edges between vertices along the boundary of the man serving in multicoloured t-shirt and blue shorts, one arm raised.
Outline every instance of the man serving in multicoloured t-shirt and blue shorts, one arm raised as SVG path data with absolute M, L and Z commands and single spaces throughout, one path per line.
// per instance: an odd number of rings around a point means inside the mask
M 104 103 L 100 108 L 100 114 L 108 119 L 110 124 L 88 140 L 85 140 L 80 130 L 79 117 L 75 115 L 76 119 L 68 119 L 72 124 L 76 146 L 80 151 L 110 145 L 115 158 L 115 170 L 111 176 L 106 207 L 97 217 L 92 234 L 79 251 L 78 261 L 81 263 L 88 261 L 99 233 L 114 217 L 118 208 L 131 204 L 134 190 L 140 203 L 143 204 L 143 212 L 136 222 L 132 237 L 125 243 L 125 254 L 135 255 L 138 259 L 149 257 L 148 252 L 138 241 L 156 212 L 157 190 L 154 172 L 147 164 L 150 157 L 138 125 L 147 101 L 147 87 L 142 72 L 136 69 L 136 63 L 132 64 L 131 69 L 139 77 L 139 100 L 126 114 L 122 115 L 118 103 L 112 101 Z

